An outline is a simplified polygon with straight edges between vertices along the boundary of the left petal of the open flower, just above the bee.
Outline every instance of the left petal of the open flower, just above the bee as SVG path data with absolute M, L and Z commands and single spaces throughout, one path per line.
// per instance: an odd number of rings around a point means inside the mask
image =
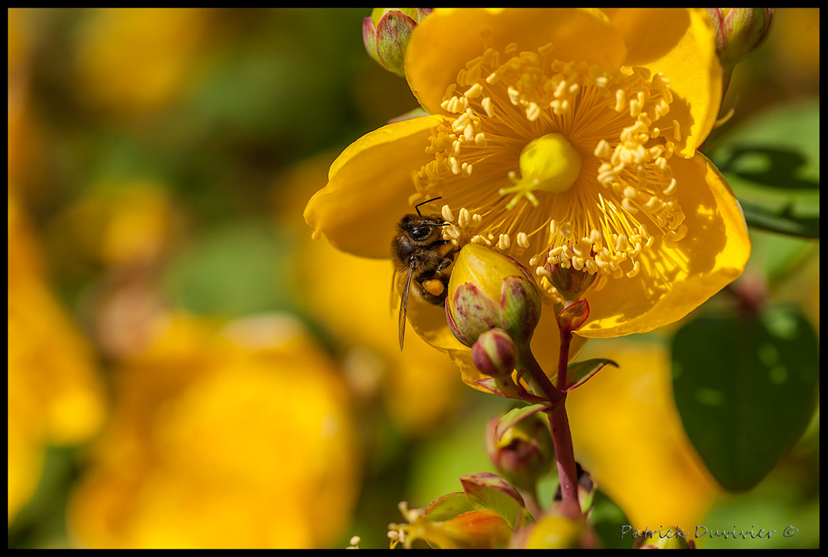
M 438 117 L 388 124 L 351 143 L 330 166 L 328 185 L 308 201 L 314 237 L 354 255 L 388 258 L 394 227 L 412 212 L 412 172 L 429 162 L 430 129 Z

